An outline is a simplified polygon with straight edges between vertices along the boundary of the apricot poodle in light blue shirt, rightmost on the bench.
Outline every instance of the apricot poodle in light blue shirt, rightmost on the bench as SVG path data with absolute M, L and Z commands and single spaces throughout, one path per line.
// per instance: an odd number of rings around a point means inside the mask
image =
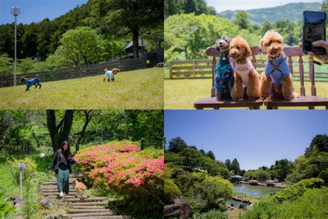
M 290 100 L 298 98 L 293 92 L 293 76 L 289 72 L 288 62 L 283 53 L 284 39 L 275 30 L 266 31 L 260 42 L 266 54 L 266 67 L 261 76 L 260 96 Z

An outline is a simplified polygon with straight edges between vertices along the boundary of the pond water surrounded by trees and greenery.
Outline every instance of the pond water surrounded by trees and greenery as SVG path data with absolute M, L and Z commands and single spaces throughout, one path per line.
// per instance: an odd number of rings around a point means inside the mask
M 242 193 L 245 195 L 250 195 L 253 197 L 263 197 L 267 195 L 268 193 L 276 193 L 277 191 L 280 191 L 282 189 L 276 188 L 276 187 L 270 187 L 270 186 L 252 186 L 250 184 L 234 184 L 235 189 L 233 191 L 235 193 Z

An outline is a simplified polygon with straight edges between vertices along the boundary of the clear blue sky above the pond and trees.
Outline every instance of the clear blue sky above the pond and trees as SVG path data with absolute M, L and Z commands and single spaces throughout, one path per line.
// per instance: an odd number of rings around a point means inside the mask
M 328 134 L 327 110 L 165 110 L 167 143 L 181 137 L 246 170 L 294 161 L 316 134 Z

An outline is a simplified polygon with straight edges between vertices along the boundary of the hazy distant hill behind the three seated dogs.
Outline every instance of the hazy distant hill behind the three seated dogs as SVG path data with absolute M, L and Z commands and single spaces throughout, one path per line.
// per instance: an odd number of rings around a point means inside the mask
M 252 23 L 262 24 L 268 20 L 270 22 L 278 19 L 290 19 L 299 20 L 302 19 L 302 13 L 304 10 L 320 10 L 321 3 L 288 3 L 284 6 L 277 6 L 273 8 L 259 8 L 252 10 L 245 10 L 248 15 L 248 19 Z M 240 10 L 225 10 L 219 13 L 219 17 L 225 17 L 228 19 L 234 19 L 237 12 Z

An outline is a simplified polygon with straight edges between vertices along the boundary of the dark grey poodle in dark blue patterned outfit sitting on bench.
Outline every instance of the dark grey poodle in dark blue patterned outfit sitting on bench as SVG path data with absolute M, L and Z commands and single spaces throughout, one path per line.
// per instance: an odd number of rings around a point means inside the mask
M 231 40 L 228 37 L 222 36 L 217 40 L 215 49 L 219 52 L 219 62 L 215 69 L 215 96 L 216 100 L 230 100 L 231 89 L 233 88 L 234 67 L 230 60 L 229 44 Z

